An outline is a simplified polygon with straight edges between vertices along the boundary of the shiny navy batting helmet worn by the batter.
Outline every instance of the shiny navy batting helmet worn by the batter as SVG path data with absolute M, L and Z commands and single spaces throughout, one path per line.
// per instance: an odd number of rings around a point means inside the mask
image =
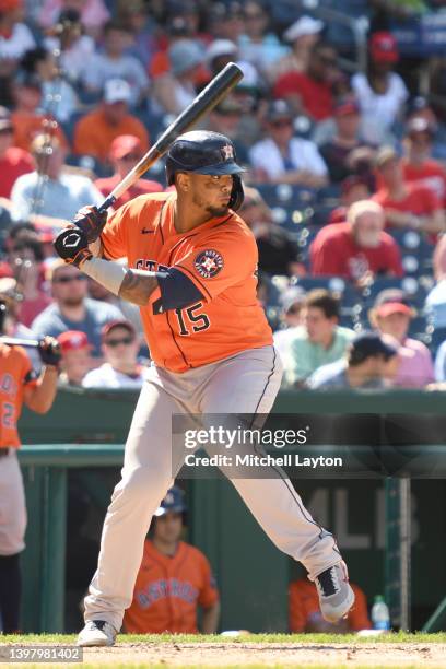
M 177 172 L 193 174 L 231 174 L 233 188 L 230 207 L 242 207 L 244 192 L 240 174 L 245 172 L 237 165 L 234 144 L 220 132 L 193 130 L 180 134 L 172 144 L 166 160 L 166 179 L 172 186 Z

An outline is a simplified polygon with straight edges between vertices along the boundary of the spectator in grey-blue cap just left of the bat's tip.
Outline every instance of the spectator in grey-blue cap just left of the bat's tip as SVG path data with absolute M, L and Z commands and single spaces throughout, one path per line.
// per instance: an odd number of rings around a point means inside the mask
M 163 111 L 179 114 L 193 101 L 203 58 L 203 49 L 192 39 L 171 45 L 171 70 L 153 81 L 153 96 Z

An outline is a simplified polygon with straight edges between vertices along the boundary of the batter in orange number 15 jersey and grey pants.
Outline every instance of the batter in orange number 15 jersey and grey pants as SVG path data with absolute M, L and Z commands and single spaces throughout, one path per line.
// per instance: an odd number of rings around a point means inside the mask
M 80 230 L 55 240 L 66 262 L 140 305 L 153 360 L 104 523 L 82 646 L 113 645 L 131 603 L 146 528 L 176 473 L 172 414 L 267 414 L 279 390 L 282 367 L 256 298 L 257 246 L 236 213 L 242 172 L 226 137 L 187 132 L 166 159 L 176 192 L 140 196 L 108 221 L 81 210 Z M 122 257 L 128 268 L 115 262 Z M 304 564 L 322 614 L 337 621 L 354 595 L 336 541 L 280 470 L 269 476 L 232 483 L 275 545 Z

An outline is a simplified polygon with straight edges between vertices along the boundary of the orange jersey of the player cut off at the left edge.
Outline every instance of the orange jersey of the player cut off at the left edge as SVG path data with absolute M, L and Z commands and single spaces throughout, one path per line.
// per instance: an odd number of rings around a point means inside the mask
M 36 375 L 24 349 L 0 343 L 0 448 L 19 448 L 23 390 L 35 384 Z

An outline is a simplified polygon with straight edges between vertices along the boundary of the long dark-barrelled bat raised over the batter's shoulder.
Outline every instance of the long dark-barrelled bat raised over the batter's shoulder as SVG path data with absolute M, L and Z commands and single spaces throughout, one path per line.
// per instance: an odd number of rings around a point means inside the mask
M 124 179 L 114 188 L 99 211 L 106 211 L 132 184 L 134 184 L 159 159 L 161 159 L 177 137 L 189 130 L 204 114 L 213 109 L 219 102 L 243 79 L 243 72 L 234 62 L 225 68 L 197 95 L 188 107 L 176 118 L 153 144 L 146 154 L 134 165 Z

